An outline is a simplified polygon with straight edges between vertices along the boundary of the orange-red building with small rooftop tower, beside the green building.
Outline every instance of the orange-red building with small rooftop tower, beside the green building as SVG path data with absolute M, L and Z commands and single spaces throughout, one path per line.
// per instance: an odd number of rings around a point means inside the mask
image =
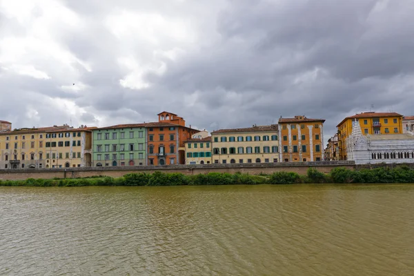
M 147 123 L 148 165 L 186 164 L 184 142 L 199 132 L 186 127 L 186 121 L 174 113 L 161 112 L 158 122 Z

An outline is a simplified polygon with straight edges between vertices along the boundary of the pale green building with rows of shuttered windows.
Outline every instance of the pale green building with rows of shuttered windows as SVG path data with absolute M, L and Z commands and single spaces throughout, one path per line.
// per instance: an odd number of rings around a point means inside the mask
M 92 166 L 147 165 L 145 124 L 92 130 Z

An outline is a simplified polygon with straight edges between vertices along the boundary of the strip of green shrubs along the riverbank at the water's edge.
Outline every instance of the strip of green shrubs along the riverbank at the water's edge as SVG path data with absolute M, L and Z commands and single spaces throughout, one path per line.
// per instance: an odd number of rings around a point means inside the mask
M 324 174 L 309 168 L 306 175 L 296 172 L 275 172 L 272 175 L 210 172 L 206 175 L 181 173 L 131 173 L 124 177 L 90 177 L 79 179 L 0 180 L 0 186 L 180 186 L 180 185 L 236 185 L 236 184 L 321 184 L 321 183 L 414 183 L 414 169 L 407 166 L 348 170 L 334 168 Z

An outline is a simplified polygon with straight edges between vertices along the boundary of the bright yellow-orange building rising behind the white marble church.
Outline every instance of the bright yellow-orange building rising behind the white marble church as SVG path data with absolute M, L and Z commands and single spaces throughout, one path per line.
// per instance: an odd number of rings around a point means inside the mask
M 346 160 L 346 138 L 351 135 L 355 121 L 362 135 L 403 133 L 402 115 L 395 112 L 362 112 L 343 119 L 338 125 L 339 159 Z

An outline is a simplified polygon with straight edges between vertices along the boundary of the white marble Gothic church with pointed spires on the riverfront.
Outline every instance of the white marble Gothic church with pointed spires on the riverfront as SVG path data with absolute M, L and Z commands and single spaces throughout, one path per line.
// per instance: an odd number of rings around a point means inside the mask
M 414 135 L 362 135 L 358 121 L 354 121 L 346 151 L 348 160 L 355 164 L 414 163 Z

